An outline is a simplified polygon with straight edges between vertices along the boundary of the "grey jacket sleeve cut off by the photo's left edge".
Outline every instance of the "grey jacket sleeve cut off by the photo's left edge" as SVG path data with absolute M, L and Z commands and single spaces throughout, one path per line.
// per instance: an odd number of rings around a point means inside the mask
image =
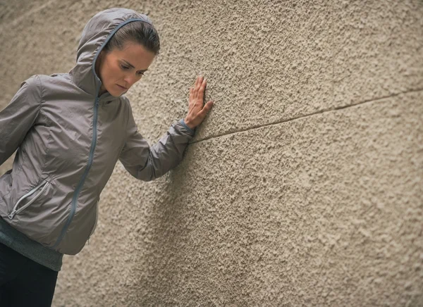
M 20 84 L 9 104 L 0 111 L 0 165 L 18 149 L 34 125 L 41 108 L 41 84 L 33 75 Z

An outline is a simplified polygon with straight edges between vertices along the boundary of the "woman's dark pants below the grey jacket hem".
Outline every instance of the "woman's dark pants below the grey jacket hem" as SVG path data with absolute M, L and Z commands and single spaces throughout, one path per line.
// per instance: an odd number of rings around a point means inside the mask
M 0 243 L 0 306 L 51 306 L 58 273 Z

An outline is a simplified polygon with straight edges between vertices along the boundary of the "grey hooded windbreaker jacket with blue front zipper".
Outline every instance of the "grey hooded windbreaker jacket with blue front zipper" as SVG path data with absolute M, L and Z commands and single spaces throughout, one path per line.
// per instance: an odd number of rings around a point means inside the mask
M 139 180 L 176 167 L 194 134 L 183 120 L 149 146 L 137 131 L 130 102 L 98 96 L 94 70 L 104 45 L 123 25 L 146 15 L 110 8 L 82 32 L 77 63 L 69 73 L 33 75 L 0 112 L 0 215 L 30 239 L 60 253 L 80 252 L 97 224 L 99 196 L 119 160 Z

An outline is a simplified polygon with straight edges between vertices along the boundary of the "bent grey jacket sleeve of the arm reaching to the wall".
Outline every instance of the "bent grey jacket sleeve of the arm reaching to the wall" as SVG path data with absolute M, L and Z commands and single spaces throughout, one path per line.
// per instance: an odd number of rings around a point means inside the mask
M 182 161 L 183 151 L 195 130 L 185 125 L 183 119 L 179 120 L 171 125 L 159 142 L 149 146 L 138 132 L 129 103 L 128 106 L 127 135 L 119 161 L 133 177 L 143 181 L 154 180 Z

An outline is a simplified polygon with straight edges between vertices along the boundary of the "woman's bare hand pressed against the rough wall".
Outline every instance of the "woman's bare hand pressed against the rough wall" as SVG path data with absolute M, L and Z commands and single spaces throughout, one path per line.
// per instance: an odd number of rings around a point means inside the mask
M 207 81 L 204 77 L 197 77 L 194 87 L 190 88 L 188 114 L 185 116 L 184 121 L 191 129 L 195 129 L 195 127 L 202 123 L 207 112 L 209 112 L 213 106 L 213 101 L 208 101 L 207 104 L 203 106 L 206 83 Z

